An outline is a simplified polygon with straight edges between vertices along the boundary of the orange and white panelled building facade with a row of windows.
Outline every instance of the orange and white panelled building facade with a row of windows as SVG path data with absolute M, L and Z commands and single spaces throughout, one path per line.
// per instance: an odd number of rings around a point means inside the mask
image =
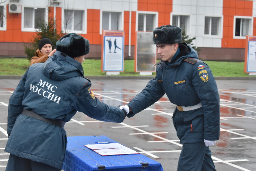
M 196 37 L 203 60 L 243 61 L 246 35 L 256 35 L 256 0 L 2 0 L 0 57 L 26 57 L 23 45 L 48 15 L 57 30 L 90 41 L 86 58 L 101 57 L 102 30 L 124 31 L 127 59 L 134 58 L 136 31 L 167 24 Z

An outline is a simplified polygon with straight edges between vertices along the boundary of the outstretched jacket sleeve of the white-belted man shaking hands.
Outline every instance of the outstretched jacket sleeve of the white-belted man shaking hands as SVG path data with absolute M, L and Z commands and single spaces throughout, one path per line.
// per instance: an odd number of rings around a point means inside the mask
M 131 118 L 136 113 L 153 105 L 164 96 L 165 92 L 161 82 L 158 82 L 158 77 L 159 74 L 156 74 L 156 77 L 152 78 L 147 86 L 127 104 L 132 109 L 132 111 L 127 114 L 127 117 Z M 162 80 L 162 78 L 160 78 L 160 80 Z

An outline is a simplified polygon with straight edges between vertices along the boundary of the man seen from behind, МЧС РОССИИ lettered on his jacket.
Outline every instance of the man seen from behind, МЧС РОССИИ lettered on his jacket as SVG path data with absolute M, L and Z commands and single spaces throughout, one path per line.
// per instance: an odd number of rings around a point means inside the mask
M 56 43 L 44 63 L 28 68 L 9 100 L 6 171 L 60 171 L 67 135 L 63 129 L 77 111 L 96 120 L 120 123 L 126 112 L 97 99 L 82 63 L 89 41 L 75 33 Z

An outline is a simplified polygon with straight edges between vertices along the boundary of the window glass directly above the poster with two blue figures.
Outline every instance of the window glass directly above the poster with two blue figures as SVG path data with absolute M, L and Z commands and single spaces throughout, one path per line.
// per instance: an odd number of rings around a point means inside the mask
M 102 30 L 120 30 L 121 12 L 102 12 Z

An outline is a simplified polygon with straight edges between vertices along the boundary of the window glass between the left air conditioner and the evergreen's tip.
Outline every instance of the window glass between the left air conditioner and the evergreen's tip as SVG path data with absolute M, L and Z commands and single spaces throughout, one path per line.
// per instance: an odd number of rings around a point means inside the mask
M 38 29 L 44 20 L 44 8 L 24 8 L 24 28 Z

